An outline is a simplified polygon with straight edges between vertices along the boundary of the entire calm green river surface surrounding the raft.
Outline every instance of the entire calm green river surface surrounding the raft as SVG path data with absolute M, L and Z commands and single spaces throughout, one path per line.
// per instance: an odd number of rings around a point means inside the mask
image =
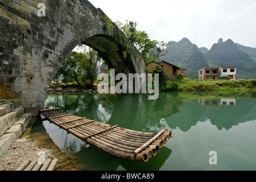
M 247 146 L 256 150 L 255 101 L 254 93 L 171 92 L 160 93 L 158 100 L 148 100 L 143 94 L 46 94 L 43 106 L 47 108 L 61 107 L 67 113 L 131 130 L 171 130 L 174 137 L 148 163 L 115 158 L 48 121 L 43 126 L 59 148 L 85 165 L 84 170 L 254 170 L 256 160 L 248 164 L 244 158 L 255 159 L 252 151 L 245 151 Z M 213 150 L 218 150 L 219 160 L 230 159 L 229 163 L 211 166 L 209 152 Z

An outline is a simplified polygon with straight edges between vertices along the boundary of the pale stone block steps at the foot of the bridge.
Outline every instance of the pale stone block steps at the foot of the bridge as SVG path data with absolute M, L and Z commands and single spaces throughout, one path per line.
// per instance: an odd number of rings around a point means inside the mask
M 31 114 L 25 114 L 18 100 L 0 100 L 0 156 L 21 136 L 30 121 Z

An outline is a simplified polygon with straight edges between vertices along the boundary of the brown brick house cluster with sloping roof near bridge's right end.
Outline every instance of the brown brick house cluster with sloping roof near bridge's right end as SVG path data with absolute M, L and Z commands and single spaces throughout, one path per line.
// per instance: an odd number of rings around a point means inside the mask
M 166 74 L 169 76 L 170 79 L 176 78 L 179 75 L 183 75 L 183 77 L 186 77 L 186 69 L 179 68 L 175 65 L 167 63 L 166 61 L 161 61 L 160 63 L 151 61 L 149 64 L 146 65 L 146 69 L 149 69 L 151 72 L 153 72 L 155 66 L 157 65 L 158 67 L 162 67 L 165 70 Z

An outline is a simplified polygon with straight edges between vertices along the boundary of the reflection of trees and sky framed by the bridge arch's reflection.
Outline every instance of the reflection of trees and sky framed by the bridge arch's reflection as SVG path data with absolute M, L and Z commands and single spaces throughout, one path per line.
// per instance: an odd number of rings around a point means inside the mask
M 115 103 L 114 95 L 97 93 L 47 93 L 43 106 L 60 107 L 67 113 L 107 122 Z M 104 120 L 104 121 L 103 121 Z

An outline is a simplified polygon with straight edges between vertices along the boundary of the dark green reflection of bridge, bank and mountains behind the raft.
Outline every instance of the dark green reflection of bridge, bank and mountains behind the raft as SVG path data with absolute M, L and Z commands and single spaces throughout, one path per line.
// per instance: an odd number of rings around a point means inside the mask
M 247 116 L 255 107 L 250 99 L 233 101 L 235 105 L 223 107 L 222 103 L 225 102 L 221 98 L 227 102 L 229 97 L 250 96 L 221 92 L 169 92 L 160 93 L 158 100 L 148 100 L 146 94 L 49 93 L 46 95 L 45 107 L 61 107 L 80 117 L 145 132 L 177 127 L 188 131 L 202 117 L 210 119 L 221 130 L 244 122 L 238 121 L 238 118 Z M 225 119 L 223 121 L 220 118 Z M 250 116 L 249 119 L 255 118 Z

